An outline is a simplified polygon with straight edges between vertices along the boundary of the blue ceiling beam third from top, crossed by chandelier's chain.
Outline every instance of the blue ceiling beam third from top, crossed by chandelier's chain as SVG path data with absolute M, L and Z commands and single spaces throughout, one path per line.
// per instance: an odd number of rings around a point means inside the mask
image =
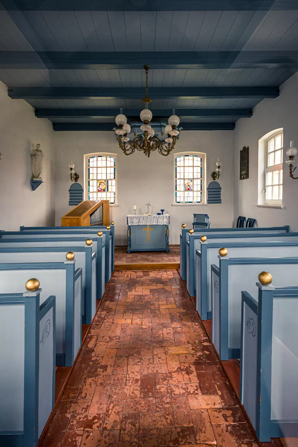
M 13 99 L 142 99 L 143 87 L 9 87 Z M 151 99 L 276 98 L 278 87 L 151 87 Z

